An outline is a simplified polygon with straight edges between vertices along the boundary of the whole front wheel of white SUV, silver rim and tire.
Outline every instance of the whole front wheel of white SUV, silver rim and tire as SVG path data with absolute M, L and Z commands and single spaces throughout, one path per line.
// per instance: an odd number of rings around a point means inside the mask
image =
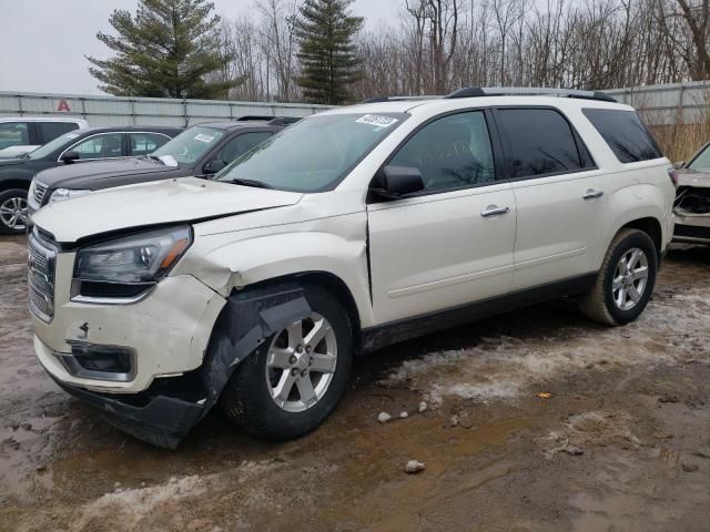
M 349 377 L 353 331 L 328 291 L 305 286 L 311 313 L 276 331 L 236 368 L 223 410 L 247 432 L 287 440 L 317 428 Z

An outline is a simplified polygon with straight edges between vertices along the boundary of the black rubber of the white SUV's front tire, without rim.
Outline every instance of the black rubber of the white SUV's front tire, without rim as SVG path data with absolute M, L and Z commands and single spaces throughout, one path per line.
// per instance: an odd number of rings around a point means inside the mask
M 220 403 L 226 416 L 245 431 L 272 439 L 290 440 L 316 429 L 335 409 L 347 387 L 353 364 L 353 330 L 341 303 L 327 290 L 304 285 L 312 310 L 326 318 L 337 342 L 337 362 L 323 397 L 305 411 L 287 412 L 271 396 L 265 371 L 272 340 L 266 338 L 241 362 L 222 391 Z

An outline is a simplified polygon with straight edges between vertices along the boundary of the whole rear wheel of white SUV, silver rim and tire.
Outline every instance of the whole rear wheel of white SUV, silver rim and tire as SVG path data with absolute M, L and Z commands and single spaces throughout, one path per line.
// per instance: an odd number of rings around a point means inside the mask
M 595 286 L 580 300 L 581 311 L 607 325 L 633 321 L 651 298 L 657 257 L 647 233 L 621 229 L 609 245 Z

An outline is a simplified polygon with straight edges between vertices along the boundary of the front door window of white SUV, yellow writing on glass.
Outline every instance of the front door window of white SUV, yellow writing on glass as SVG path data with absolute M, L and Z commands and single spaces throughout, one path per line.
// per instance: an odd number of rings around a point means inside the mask
M 496 178 L 483 111 L 452 114 L 425 125 L 388 164 L 419 168 L 426 191 L 479 185 Z

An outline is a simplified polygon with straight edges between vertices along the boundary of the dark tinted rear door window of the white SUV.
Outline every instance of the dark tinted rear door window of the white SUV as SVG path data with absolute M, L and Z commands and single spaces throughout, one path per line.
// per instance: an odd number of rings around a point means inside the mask
M 591 167 L 580 154 L 565 117 L 551 109 L 499 109 L 496 121 L 508 139 L 513 177 L 576 172 Z

